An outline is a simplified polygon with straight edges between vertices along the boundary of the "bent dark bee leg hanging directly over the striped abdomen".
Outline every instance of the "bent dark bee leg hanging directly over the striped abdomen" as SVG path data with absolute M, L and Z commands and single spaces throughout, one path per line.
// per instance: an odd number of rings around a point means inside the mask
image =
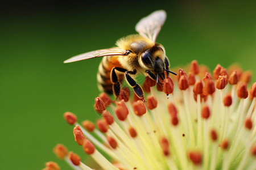
M 113 83 L 113 92 L 114 92 L 114 95 L 116 97 L 119 96 L 119 93 L 120 93 L 120 90 L 121 90 L 121 84 L 117 78 L 117 74 L 115 73 L 115 70 L 117 71 L 120 71 L 120 72 L 123 72 L 125 73 L 125 71 L 127 71 L 126 69 L 123 69 L 121 67 L 114 67 L 112 70 L 111 70 L 111 73 L 110 73 L 110 80 L 112 81 Z

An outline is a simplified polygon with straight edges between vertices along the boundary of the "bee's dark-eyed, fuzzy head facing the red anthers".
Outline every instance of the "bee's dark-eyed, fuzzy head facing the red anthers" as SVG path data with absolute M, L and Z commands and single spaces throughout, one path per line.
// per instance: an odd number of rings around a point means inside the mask
M 165 56 L 163 46 L 155 45 L 141 54 L 141 61 L 148 70 L 154 73 L 163 73 Z

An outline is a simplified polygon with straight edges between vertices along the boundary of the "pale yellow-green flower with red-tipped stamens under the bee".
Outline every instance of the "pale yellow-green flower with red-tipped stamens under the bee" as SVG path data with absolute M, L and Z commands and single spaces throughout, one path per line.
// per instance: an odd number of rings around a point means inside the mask
M 166 73 L 157 88 L 146 77 L 146 103 L 136 95 L 131 99 L 127 87 L 119 101 L 100 94 L 94 106 L 102 116 L 98 129 L 88 120 L 78 124 L 71 112 L 64 117 L 75 126 L 76 142 L 102 169 L 255 169 L 256 83 L 248 92 L 250 76 L 221 65 L 212 76 L 192 61 L 188 74 L 179 69 L 172 80 Z M 113 112 L 109 105 L 115 105 Z M 63 145 L 54 151 L 73 167 L 92 169 Z

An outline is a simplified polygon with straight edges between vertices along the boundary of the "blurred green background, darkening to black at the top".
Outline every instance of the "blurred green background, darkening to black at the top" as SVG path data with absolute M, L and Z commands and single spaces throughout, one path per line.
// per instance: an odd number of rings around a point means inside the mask
M 90 162 L 74 141 L 63 113 L 79 122 L 99 118 L 93 109 L 101 58 L 64 64 L 79 53 L 112 47 L 135 33 L 152 11 L 167 11 L 157 41 L 171 66 L 193 59 L 211 70 L 240 63 L 256 73 L 256 10 L 251 2 L 1 1 L 0 169 L 42 169 L 63 143 Z M 253 81 L 255 81 L 255 75 Z

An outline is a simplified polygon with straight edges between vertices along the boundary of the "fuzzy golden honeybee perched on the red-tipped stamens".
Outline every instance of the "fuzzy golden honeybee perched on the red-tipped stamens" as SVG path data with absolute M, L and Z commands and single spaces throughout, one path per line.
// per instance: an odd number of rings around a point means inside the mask
M 117 47 L 80 54 L 64 63 L 103 57 L 97 73 L 98 88 L 118 97 L 121 83 L 126 79 L 134 93 L 144 101 L 143 90 L 134 80 L 135 75 L 142 73 L 159 83 L 159 76 L 164 79 L 164 71 L 175 74 L 169 70 L 163 45 L 155 42 L 165 20 L 165 11 L 152 12 L 135 26 L 139 35 L 123 37 L 116 42 Z

